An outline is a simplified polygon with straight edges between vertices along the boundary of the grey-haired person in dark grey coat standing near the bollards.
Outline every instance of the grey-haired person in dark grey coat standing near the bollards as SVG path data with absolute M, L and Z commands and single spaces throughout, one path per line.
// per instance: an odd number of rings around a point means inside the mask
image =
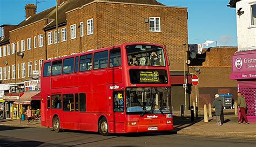
M 212 107 L 215 108 L 216 125 L 222 125 L 220 115 L 221 111 L 223 111 L 223 101 L 218 94 L 215 94 L 215 100 L 213 101 Z

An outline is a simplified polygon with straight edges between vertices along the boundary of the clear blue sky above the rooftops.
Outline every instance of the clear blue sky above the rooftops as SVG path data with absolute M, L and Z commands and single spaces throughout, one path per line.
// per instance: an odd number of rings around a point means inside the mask
M 56 4 L 55 0 L 0 0 L 0 25 L 21 23 L 25 19 L 24 6 L 28 3 L 36 4 L 36 1 L 37 12 Z M 187 7 L 188 44 L 213 40 L 217 41 L 218 46 L 237 46 L 235 9 L 227 7 L 230 0 L 157 1 L 168 6 Z

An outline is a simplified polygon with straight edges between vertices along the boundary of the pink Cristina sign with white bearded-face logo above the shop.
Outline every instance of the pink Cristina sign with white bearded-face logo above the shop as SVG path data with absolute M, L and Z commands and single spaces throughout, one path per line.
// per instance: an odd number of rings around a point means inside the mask
M 256 79 L 256 51 L 237 52 L 232 57 L 231 79 Z

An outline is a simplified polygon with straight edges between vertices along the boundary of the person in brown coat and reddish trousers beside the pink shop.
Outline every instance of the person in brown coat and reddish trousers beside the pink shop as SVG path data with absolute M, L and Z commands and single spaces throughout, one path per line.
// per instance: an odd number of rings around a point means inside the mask
M 237 98 L 238 98 L 238 101 L 237 101 L 237 106 L 240 107 L 240 113 L 241 113 L 241 117 L 239 118 L 238 120 L 238 123 L 242 123 L 245 121 L 244 124 L 250 124 L 248 123 L 248 120 L 247 120 L 247 117 L 246 117 L 246 102 L 245 102 L 245 97 L 242 96 L 242 94 L 240 92 L 237 93 Z

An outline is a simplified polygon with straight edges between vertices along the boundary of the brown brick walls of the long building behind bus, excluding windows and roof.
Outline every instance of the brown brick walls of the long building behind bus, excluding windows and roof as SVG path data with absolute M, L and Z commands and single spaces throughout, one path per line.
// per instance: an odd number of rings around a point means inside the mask
M 171 70 L 182 71 L 183 66 L 183 44 L 187 43 L 187 9 L 152 6 L 142 4 L 122 4 L 109 2 L 95 2 L 85 5 L 82 8 L 67 12 L 66 25 L 59 27 L 60 43 L 58 44 L 59 54 L 69 55 L 80 53 L 107 46 L 113 46 L 131 42 L 150 42 L 166 45 L 171 60 Z M 149 17 L 160 17 L 161 32 L 150 32 L 149 23 L 145 19 Z M 87 35 L 87 20 L 93 18 L 93 34 Z M 35 60 L 39 67 L 39 59 L 57 57 L 57 46 L 55 44 L 56 29 L 44 31 L 49 20 L 41 20 L 15 31 L 10 32 L 10 44 L 19 41 L 21 51 L 21 40 L 25 40 L 24 57 L 11 54 L 0 60 L 8 60 L 8 65 L 16 62 L 16 76 L 18 64 L 26 63 L 26 78 L 3 80 L 2 83 L 22 82 L 28 78 L 28 62 L 32 61 L 32 70 L 35 67 Z M 80 22 L 84 23 L 84 37 L 80 37 Z M 76 24 L 76 39 L 71 39 L 70 26 Z M 66 41 L 62 41 L 61 29 L 66 27 Z M 48 32 L 52 32 L 53 44 L 48 45 Z M 43 47 L 38 47 L 38 35 L 43 34 Z M 37 37 L 37 48 L 34 48 L 34 37 Z M 31 38 L 31 50 L 28 51 L 28 38 Z M 20 73 L 21 75 L 21 73 Z

